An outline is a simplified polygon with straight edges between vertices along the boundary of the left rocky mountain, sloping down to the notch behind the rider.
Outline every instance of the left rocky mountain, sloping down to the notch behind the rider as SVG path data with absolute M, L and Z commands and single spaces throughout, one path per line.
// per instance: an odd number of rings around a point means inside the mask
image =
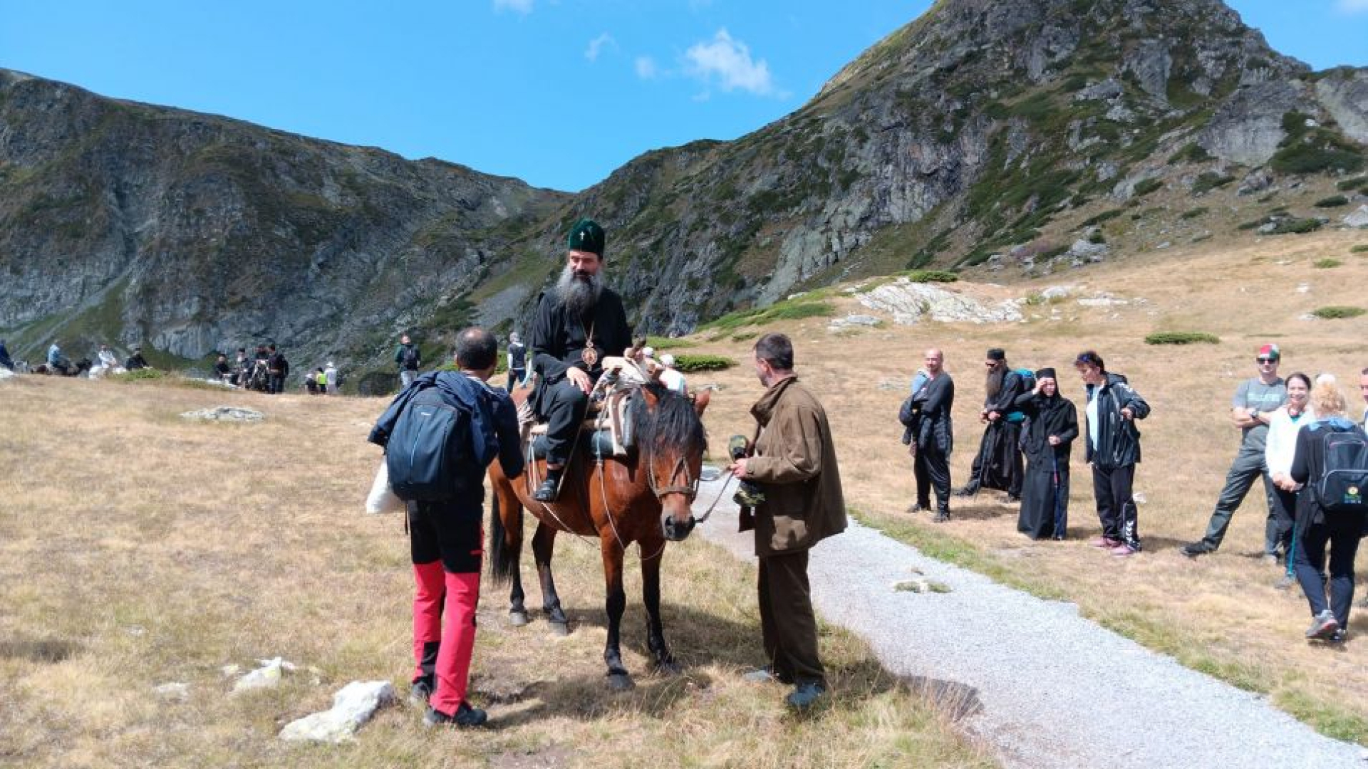
M 376 353 L 564 198 L 0 71 L 0 328 L 27 354 Z

